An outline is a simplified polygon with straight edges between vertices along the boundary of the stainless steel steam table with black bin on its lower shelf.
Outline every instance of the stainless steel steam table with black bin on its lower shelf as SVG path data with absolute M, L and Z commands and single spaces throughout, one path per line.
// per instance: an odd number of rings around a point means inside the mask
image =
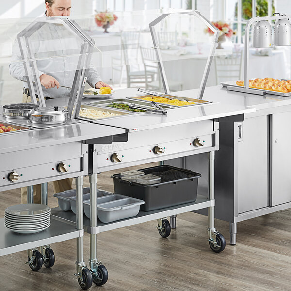
M 139 95 L 134 89 L 118 91 L 114 98 Z M 96 101 L 96 100 L 95 100 Z M 83 100 L 88 102 L 88 99 Z M 210 247 L 220 252 L 225 247 L 224 237 L 214 226 L 214 152 L 219 149 L 219 122 L 218 118 L 236 116 L 239 119 L 244 113 L 255 109 L 246 109 L 244 106 L 212 103 L 208 105 L 169 109 L 166 115 L 156 113 L 133 114 L 106 120 L 96 120 L 94 125 L 110 126 L 125 131 L 114 140 L 89 142 L 89 174 L 91 219 L 84 219 L 85 229 L 90 233 L 89 266 L 93 275 L 93 282 L 102 285 L 107 281 L 106 268 L 97 259 L 96 235 L 124 226 L 130 226 L 153 219 L 158 219 L 158 227 L 162 228 L 162 220 L 167 216 L 173 218 L 183 212 L 208 208 L 209 225 L 208 235 Z M 199 139 L 202 146 L 195 146 L 194 141 Z M 203 142 L 202 142 L 203 141 Z M 155 153 L 155 147 L 161 146 L 165 151 Z M 188 203 L 162 210 L 140 213 L 133 218 L 103 224 L 97 220 L 96 189 L 97 173 L 120 169 L 147 162 L 158 162 L 173 158 L 186 157 L 208 153 L 209 192 L 207 197 L 198 195 L 195 203 Z M 118 157 L 112 159 L 113 155 Z M 74 224 L 75 216 L 59 209 L 52 210 L 52 215 L 60 221 Z M 161 219 L 162 217 L 162 219 Z M 175 219 L 172 220 L 173 222 Z

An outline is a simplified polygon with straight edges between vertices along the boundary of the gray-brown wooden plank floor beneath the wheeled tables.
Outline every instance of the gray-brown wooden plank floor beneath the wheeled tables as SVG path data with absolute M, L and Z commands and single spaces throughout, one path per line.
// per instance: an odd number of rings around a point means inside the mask
M 132 167 L 139 169 L 145 166 Z M 114 171 L 116 173 L 116 171 Z M 112 172 L 98 175 L 98 188 L 113 191 Z M 89 185 L 88 177 L 85 186 Z M 5 207 L 20 203 L 20 190 L 2 192 L 0 216 Z M 49 184 L 49 206 L 56 205 Z M 228 223 L 216 220 L 226 237 L 220 254 L 207 242 L 207 217 L 178 215 L 177 229 L 168 239 L 156 222 L 97 235 L 98 258 L 109 271 L 102 291 L 271 291 L 291 290 L 291 210 L 283 210 L 238 224 L 238 242 L 229 245 Z M 0 258 L 0 291 L 79 290 L 75 272 L 75 240 L 52 245 L 56 263 L 32 272 L 20 252 Z M 89 258 L 89 236 L 84 237 L 84 258 Z

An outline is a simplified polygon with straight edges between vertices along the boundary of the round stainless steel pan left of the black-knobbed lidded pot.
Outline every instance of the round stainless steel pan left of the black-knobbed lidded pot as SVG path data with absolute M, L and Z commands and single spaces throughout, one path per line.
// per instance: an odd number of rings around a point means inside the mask
M 3 116 L 6 118 L 28 119 L 28 112 L 39 107 L 33 103 L 14 103 L 3 106 Z

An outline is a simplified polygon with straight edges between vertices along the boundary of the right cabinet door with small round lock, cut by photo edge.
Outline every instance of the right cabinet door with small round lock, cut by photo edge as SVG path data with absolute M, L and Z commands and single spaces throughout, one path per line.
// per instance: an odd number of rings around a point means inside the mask
M 291 113 L 272 115 L 271 205 L 291 201 Z

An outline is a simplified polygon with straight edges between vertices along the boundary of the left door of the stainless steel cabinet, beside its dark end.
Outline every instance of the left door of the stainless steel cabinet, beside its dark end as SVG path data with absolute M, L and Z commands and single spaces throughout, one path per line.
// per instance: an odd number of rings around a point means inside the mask
M 234 192 L 237 192 L 237 212 L 240 214 L 267 207 L 270 203 L 268 116 L 248 118 L 235 126 L 236 130 L 241 127 L 241 138 L 238 132 L 237 141 L 234 140 L 234 147 L 237 147 L 234 168 L 234 171 L 237 169 L 234 175 L 237 189 L 235 187 Z

